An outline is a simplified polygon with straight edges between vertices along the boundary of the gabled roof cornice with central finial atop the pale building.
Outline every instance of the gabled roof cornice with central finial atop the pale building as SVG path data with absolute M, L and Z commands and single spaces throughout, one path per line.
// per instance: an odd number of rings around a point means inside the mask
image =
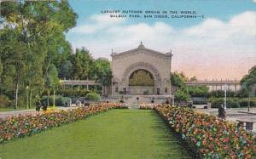
M 132 54 L 134 52 L 137 52 L 137 51 L 145 51 L 145 52 L 148 52 L 149 54 L 156 54 L 156 55 L 160 55 L 160 56 L 164 56 L 164 57 L 172 57 L 172 50 L 171 52 L 169 53 L 160 53 L 158 51 L 155 51 L 153 49 L 148 49 L 148 48 L 145 48 L 144 45 L 143 45 L 143 42 L 140 43 L 140 45 L 137 47 L 137 48 L 134 48 L 134 49 L 131 49 L 131 50 L 128 50 L 128 51 L 125 51 L 125 52 L 122 52 L 122 53 L 112 53 L 111 56 L 121 56 L 121 55 L 125 55 L 125 54 Z

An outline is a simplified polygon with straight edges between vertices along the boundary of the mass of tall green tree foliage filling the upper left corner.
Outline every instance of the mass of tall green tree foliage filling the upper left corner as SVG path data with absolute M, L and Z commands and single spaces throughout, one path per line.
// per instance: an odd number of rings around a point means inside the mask
M 50 68 L 60 70 L 60 57 L 72 53 L 65 32 L 75 26 L 76 18 L 67 1 L 1 3 L 0 90 L 15 99 L 15 109 L 26 97 L 31 106 L 48 87 L 47 78 L 53 78 Z

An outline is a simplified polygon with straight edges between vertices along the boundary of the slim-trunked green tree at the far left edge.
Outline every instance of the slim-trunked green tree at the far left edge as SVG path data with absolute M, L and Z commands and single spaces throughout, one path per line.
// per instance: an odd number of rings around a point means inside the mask
M 23 75 L 26 69 L 26 43 L 19 41 L 20 36 L 18 31 L 16 30 L 11 31 L 9 28 L 5 28 L 0 31 L 0 35 L 0 60 L 3 61 L 3 70 L 5 70 L 2 75 L 3 83 L 8 83 L 7 85 L 13 86 L 15 109 L 17 109 L 20 84 L 23 80 L 22 78 L 24 77 Z M 9 68 L 10 70 L 7 71 L 7 68 Z M 5 87 L 4 84 L 3 87 Z

